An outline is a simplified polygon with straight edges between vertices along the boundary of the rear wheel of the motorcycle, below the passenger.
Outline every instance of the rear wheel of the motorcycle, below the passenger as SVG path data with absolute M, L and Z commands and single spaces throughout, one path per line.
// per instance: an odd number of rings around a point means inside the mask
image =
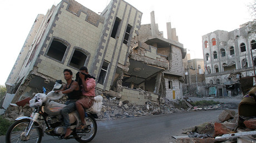
M 97 123 L 92 115 L 88 114 L 88 117 L 85 118 L 86 127 L 85 129 L 77 130 L 75 138 L 78 142 L 90 142 L 96 135 L 97 132 Z

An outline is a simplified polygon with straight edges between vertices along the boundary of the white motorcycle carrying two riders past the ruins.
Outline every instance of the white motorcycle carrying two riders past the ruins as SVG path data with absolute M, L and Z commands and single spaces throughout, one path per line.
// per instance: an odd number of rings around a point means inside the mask
M 56 136 L 58 139 L 64 139 L 66 127 L 64 126 L 62 115 L 60 115 L 60 110 L 66 105 L 51 101 L 60 99 L 63 96 L 62 93 L 55 93 L 54 91 L 54 89 L 61 88 L 61 83 L 61 80 L 57 80 L 52 91 L 45 94 L 46 90 L 43 88 L 44 93 L 37 93 L 34 98 L 29 101 L 29 106 L 35 108 L 35 110 L 33 110 L 30 117 L 23 116 L 17 118 L 15 119 L 16 122 L 9 126 L 6 134 L 7 143 L 41 142 L 43 132 L 50 136 Z M 99 103 L 101 103 L 100 100 L 102 101 L 102 99 L 98 100 Z M 95 111 L 93 112 L 91 108 L 85 110 L 86 127 L 84 129 L 77 129 L 80 125 L 77 111 L 70 113 L 69 117 L 73 132 L 65 139 L 75 139 L 78 142 L 90 142 L 95 137 L 97 132 L 95 119 L 98 118 Z

